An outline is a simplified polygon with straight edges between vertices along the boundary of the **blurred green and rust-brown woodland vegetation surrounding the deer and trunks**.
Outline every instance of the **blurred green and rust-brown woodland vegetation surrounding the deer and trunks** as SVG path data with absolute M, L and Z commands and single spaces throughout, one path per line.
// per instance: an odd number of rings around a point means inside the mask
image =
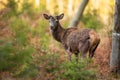
M 114 0 L 89 0 L 78 27 L 101 38 L 94 58 L 67 60 L 43 13 L 64 13 L 67 28 L 82 0 L 0 0 L 0 80 L 119 80 L 109 70 Z M 81 55 L 79 55 L 81 56 Z

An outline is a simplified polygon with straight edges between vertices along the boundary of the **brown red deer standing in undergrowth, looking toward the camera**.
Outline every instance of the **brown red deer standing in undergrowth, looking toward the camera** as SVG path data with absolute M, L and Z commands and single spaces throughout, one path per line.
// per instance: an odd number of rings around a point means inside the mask
M 89 57 L 94 56 L 94 52 L 100 43 L 100 38 L 92 29 L 80 29 L 76 27 L 64 29 L 59 20 L 64 17 L 64 14 L 51 16 L 43 14 L 46 20 L 49 20 L 50 31 L 55 40 L 60 42 L 68 53 L 68 59 L 71 60 L 72 53 L 78 59 L 78 53 L 82 53 L 86 57 L 89 51 Z

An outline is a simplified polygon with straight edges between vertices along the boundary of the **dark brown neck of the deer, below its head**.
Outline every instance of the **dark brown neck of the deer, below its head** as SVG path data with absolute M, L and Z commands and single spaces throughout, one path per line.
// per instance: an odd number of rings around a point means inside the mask
M 65 32 L 65 29 L 61 27 L 60 24 L 57 26 L 57 29 L 51 30 L 53 38 L 57 40 L 58 42 L 62 42 L 64 32 Z

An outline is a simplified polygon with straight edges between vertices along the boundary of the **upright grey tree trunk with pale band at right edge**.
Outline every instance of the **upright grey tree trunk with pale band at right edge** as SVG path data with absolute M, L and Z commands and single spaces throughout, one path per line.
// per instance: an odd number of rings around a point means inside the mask
M 112 35 L 112 53 L 110 55 L 110 70 L 120 72 L 120 0 L 115 0 L 114 29 Z

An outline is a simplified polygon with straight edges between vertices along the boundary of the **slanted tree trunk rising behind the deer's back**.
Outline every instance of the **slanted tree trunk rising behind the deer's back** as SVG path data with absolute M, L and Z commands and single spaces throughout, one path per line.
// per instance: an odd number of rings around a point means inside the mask
M 73 19 L 70 22 L 69 27 L 77 27 L 79 20 L 82 17 L 83 11 L 87 5 L 89 0 L 83 0 L 80 7 L 78 8 L 78 11 L 76 12 L 75 16 L 73 17 Z

